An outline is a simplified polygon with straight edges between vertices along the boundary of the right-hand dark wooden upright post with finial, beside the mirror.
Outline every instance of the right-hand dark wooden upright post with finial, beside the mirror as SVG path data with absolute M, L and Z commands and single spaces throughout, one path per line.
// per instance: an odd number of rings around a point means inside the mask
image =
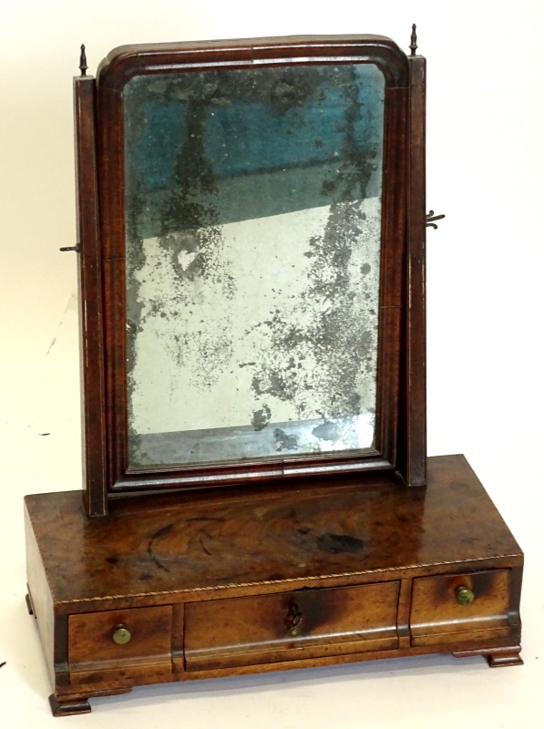
M 405 444 L 407 486 L 426 485 L 426 59 L 409 56 L 408 210 L 406 250 Z

